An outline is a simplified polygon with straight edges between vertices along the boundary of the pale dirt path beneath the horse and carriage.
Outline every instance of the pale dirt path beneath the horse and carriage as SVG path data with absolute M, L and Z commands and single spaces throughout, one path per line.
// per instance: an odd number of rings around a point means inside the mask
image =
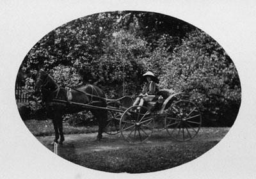
M 225 130 L 204 130 L 200 131 L 198 135 L 191 141 L 182 143 L 193 143 L 196 141 L 220 141 L 229 128 Z M 120 150 L 122 148 L 134 148 L 156 145 L 167 145 L 172 143 L 180 143 L 170 138 L 165 130 L 162 132 L 154 132 L 150 139 L 143 144 L 129 144 L 122 138 L 121 134 L 108 135 L 104 134 L 100 141 L 95 141 L 97 133 L 93 134 L 70 134 L 65 135 L 64 144 L 58 145 L 58 153 L 66 154 L 69 152 L 86 153 L 86 152 L 99 152 L 104 150 Z M 40 143 L 54 152 L 54 146 L 51 144 L 54 136 L 36 137 Z

